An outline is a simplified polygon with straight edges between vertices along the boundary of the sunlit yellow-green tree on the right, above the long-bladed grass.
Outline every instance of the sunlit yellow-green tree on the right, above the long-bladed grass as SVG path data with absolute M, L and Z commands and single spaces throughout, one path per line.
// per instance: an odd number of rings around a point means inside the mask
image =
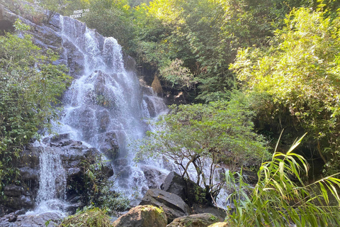
M 285 22 L 271 48 L 239 51 L 232 68 L 246 89 L 265 98 L 256 111 L 272 110 L 270 118 L 284 112 L 316 141 L 329 170 L 339 170 L 340 20 L 302 8 Z

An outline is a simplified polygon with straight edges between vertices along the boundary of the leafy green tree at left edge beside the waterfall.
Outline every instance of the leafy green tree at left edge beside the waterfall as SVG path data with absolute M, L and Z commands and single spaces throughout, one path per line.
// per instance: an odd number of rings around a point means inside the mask
M 20 21 L 15 27 L 29 29 Z M 23 32 L 0 36 L 0 189 L 16 179 L 13 163 L 23 146 L 50 127 L 71 79 L 64 66 L 52 65 L 58 56 L 50 50 L 43 54 L 31 39 Z

